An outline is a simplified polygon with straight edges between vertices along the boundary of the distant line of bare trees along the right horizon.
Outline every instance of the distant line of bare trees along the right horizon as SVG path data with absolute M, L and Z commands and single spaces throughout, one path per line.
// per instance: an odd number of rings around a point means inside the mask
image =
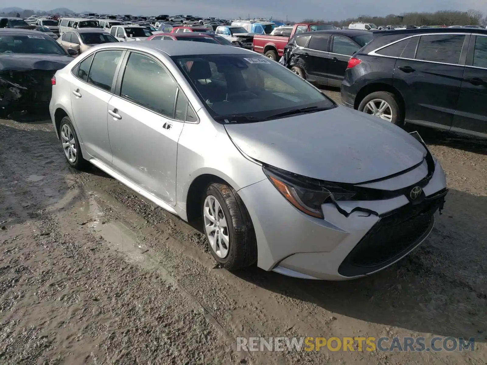
M 282 21 L 282 20 L 281 20 Z M 440 10 L 435 13 L 402 13 L 401 15 L 390 14 L 385 17 L 373 17 L 361 15 L 357 18 L 344 20 L 325 20 L 325 19 L 304 19 L 303 22 L 323 22 L 333 24 L 337 27 L 346 27 L 350 23 L 361 21 L 374 23 L 377 26 L 388 25 L 486 25 L 487 17 L 481 11 L 470 9 L 468 11 Z M 285 22 L 285 21 L 282 21 Z M 287 22 L 294 24 L 294 22 Z

